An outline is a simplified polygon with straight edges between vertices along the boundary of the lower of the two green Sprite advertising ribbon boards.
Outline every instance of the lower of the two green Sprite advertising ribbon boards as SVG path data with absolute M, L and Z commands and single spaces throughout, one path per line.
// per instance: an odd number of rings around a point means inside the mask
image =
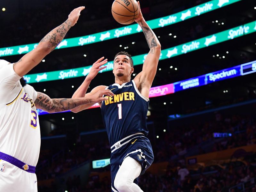
M 196 51 L 198 49 L 202 49 L 214 44 L 218 44 L 224 41 L 228 41 L 240 36 L 244 36 L 250 33 L 256 32 L 256 21 L 228 29 L 226 31 L 222 31 L 210 36 L 206 36 L 185 44 L 177 45 L 175 47 L 171 47 L 169 49 L 165 49 L 161 51 L 160 60 L 169 59 L 181 54 L 186 54 L 188 52 Z M 134 65 L 140 65 L 143 64 L 145 61 L 145 58 L 147 57 L 147 54 L 137 55 L 132 57 Z M 105 66 L 107 68 L 100 71 L 106 72 L 111 71 L 113 69 L 113 62 L 109 61 Z M 27 80 L 29 84 L 32 83 L 39 83 L 44 81 L 54 81 L 54 80 L 60 80 L 60 79 L 68 79 L 68 78 L 75 78 L 75 77 L 81 77 L 86 76 L 90 72 L 92 66 L 87 67 L 81 67 L 81 68 L 74 68 L 74 69 L 66 69 L 61 71 L 51 71 L 51 72 L 45 72 L 40 74 L 31 74 L 26 75 L 24 78 Z M 199 82 L 203 81 L 202 79 L 196 79 L 191 80 L 196 84 L 199 84 Z M 190 83 L 188 83 L 190 84 Z M 186 86 L 184 84 L 184 86 Z M 190 86 L 190 85 L 189 85 Z

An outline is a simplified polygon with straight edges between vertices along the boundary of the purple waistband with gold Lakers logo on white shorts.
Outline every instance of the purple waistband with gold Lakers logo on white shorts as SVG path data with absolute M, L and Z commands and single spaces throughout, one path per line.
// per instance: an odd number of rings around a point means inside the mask
M 20 169 L 29 172 L 29 173 L 35 173 L 36 172 L 36 167 L 28 165 L 20 161 L 19 159 L 16 159 L 15 157 L 12 157 L 10 155 L 7 155 L 5 153 L 0 152 L 0 159 L 7 161 L 16 167 L 19 167 Z

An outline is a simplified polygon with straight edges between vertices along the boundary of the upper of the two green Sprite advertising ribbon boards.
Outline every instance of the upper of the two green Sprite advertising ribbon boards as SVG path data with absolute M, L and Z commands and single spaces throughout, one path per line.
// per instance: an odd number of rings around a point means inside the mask
M 161 28 L 168 25 L 172 25 L 174 23 L 178 23 L 180 21 L 190 19 L 192 17 L 199 16 L 207 12 L 211 12 L 221 7 L 236 3 L 238 1 L 241 1 L 241 0 L 212 0 L 207 3 L 192 7 L 190 9 L 175 13 L 173 15 L 169 15 L 169 16 L 154 19 L 154 20 L 149 20 L 147 21 L 147 23 L 152 29 Z M 57 46 L 56 49 L 83 46 L 86 44 L 97 43 L 97 42 L 106 41 L 113 38 L 118 38 L 121 36 L 127 36 L 131 34 L 139 33 L 141 31 L 142 29 L 138 24 L 133 24 L 126 27 L 122 27 L 122 28 L 116 28 L 109 31 L 95 33 L 92 35 L 64 39 Z M 0 57 L 25 54 L 35 49 L 37 45 L 38 44 L 34 43 L 34 44 L 0 48 Z

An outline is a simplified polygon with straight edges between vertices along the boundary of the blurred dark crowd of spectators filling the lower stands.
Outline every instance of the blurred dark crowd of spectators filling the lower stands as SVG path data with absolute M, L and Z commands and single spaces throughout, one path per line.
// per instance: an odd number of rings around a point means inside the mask
M 229 116 L 216 113 L 212 120 L 190 125 L 183 124 L 166 129 L 163 139 L 160 138 L 152 142 L 155 153 L 154 163 L 169 162 L 166 173 L 162 176 L 146 173 L 140 178 L 141 188 L 144 191 L 154 192 L 220 192 L 227 191 L 231 186 L 241 182 L 248 181 L 249 183 L 246 186 L 253 185 L 256 170 L 252 166 L 253 164 L 250 164 L 251 159 L 243 164 L 227 164 L 225 165 L 226 168 L 212 166 L 208 171 L 213 171 L 214 173 L 205 176 L 202 174 L 203 172 L 205 173 L 203 169 L 198 169 L 196 172 L 188 170 L 185 158 L 254 144 L 255 127 L 255 114 Z M 229 135 L 231 136 L 214 138 L 214 132 L 230 133 Z M 211 144 L 205 145 L 205 143 Z M 47 169 L 40 170 L 37 173 L 37 177 L 39 180 L 54 179 L 83 162 L 109 158 L 109 148 L 107 139 L 85 142 L 78 138 L 76 146 L 72 150 L 70 148 L 65 149 L 61 158 L 50 164 Z M 44 157 L 40 156 L 39 163 L 42 162 L 44 162 Z M 198 176 L 199 174 L 200 176 Z M 195 175 L 200 178 L 196 179 Z M 83 191 L 76 185 L 75 180 L 68 179 L 67 186 L 74 191 Z M 108 178 L 100 182 L 99 178 L 94 177 L 89 179 L 85 191 L 109 191 L 109 185 Z M 255 188 L 250 190 L 254 191 Z M 236 189 L 233 191 L 236 191 Z

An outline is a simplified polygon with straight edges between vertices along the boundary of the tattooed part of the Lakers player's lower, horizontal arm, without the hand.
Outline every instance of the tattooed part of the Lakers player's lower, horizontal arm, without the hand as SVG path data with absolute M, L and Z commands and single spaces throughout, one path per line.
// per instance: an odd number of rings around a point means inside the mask
M 51 99 L 48 95 L 38 92 L 35 101 L 37 108 L 47 112 L 61 112 L 76 108 L 80 105 L 91 103 L 90 99 Z

